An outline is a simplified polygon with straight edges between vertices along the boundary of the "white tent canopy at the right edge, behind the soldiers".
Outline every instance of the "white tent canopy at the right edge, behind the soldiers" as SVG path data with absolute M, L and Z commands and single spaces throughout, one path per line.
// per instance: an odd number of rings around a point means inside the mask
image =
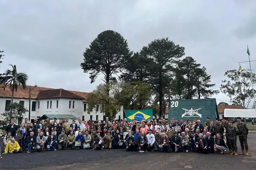
M 256 118 L 256 112 L 255 109 L 224 109 L 224 117 Z

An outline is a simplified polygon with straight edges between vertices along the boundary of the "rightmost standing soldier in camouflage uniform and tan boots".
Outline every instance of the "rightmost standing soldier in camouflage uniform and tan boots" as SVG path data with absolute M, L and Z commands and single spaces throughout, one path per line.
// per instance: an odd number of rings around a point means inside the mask
M 241 117 L 237 117 L 237 124 L 236 127 L 238 129 L 238 135 L 239 135 L 239 141 L 242 149 L 242 153 L 239 153 L 239 155 L 246 155 L 248 156 L 248 144 L 247 144 L 247 135 L 248 135 L 248 127 L 247 124 L 241 121 Z M 244 153 L 244 147 L 246 153 Z

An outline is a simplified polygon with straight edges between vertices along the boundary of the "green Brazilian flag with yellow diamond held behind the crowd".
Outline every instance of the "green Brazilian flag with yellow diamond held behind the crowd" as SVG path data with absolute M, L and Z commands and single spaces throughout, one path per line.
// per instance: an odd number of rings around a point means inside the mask
M 152 119 L 153 118 L 153 109 L 144 109 L 144 110 L 125 110 L 125 117 L 127 121 L 142 121 L 144 118 Z

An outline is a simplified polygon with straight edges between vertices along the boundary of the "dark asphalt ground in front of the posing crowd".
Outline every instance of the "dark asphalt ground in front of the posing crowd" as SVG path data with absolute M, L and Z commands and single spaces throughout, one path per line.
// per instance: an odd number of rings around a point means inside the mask
M 0 170 L 256 170 L 256 133 L 249 133 L 249 156 L 218 153 L 127 152 L 125 149 L 57 150 L 3 154 Z M 3 140 L 1 139 L 1 144 Z M 238 152 L 241 151 L 239 140 Z M 1 147 L 3 153 L 3 147 Z

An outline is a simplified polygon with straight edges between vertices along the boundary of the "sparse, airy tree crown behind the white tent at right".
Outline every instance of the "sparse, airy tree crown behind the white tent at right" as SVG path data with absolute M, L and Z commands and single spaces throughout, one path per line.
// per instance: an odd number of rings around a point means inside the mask
M 247 108 L 253 101 L 253 89 L 251 83 L 251 74 L 249 70 L 229 70 L 224 74 L 229 80 L 222 81 L 221 92 L 230 97 L 233 104 L 241 104 Z M 253 74 L 253 84 L 255 84 L 256 75 Z

